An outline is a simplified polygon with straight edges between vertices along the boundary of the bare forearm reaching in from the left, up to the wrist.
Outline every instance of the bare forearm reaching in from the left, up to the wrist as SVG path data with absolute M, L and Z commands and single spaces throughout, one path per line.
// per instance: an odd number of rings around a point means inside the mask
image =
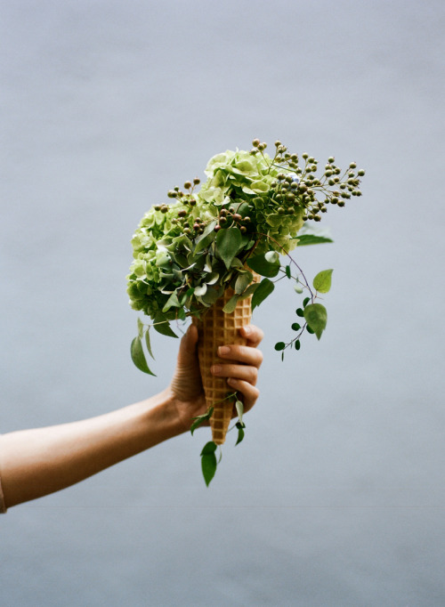
M 6 506 L 82 481 L 182 433 L 168 391 L 79 422 L 0 436 Z

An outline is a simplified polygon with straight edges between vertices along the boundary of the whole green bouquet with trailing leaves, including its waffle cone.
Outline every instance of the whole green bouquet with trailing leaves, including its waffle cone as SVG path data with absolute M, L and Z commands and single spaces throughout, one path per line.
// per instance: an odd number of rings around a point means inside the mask
M 208 409 L 194 420 L 191 431 L 206 419 L 213 430 L 213 441 L 201 454 L 203 472 L 206 457 L 216 461 L 214 449 L 225 440 L 234 404 L 238 442 L 244 436 L 242 401 L 227 392 L 223 378 L 210 375 L 218 345 L 240 343 L 238 328 L 250 321 L 251 312 L 281 278 L 293 284 L 303 302 L 291 323 L 292 335 L 277 342 L 275 349 L 283 359 L 287 350 L 300 349 L 304 332 L 320 339 L 328 316 L 317 298 L 328 292 L 332 270 L 320 271 L 311 285 L 290 252 L 297 246 L 332 242 L 317 230 L 321 215 L 329 205 L 344 206 L 361 196 L 360 177 L 365 172 L 354 162 L 342 172 L 330 157 L 319 171 L 318 161 L 306 153 L 299 157 L 279 141 L 273 155 L 265 152 L 266 147 L 255 139 L 250 151 L 227 150 L 211 158 L 200 189 L 195 178 L 182 189 L 169 190 L 172 203 L 152 206 L 132 239 L 134 262 L 127 292 L 134 310 L 151 320 L 138 319 L 131 347 L 136 367 L 153 375 L 142 347 L 145 341 L 152 356 L 151 328 L 176 336 L 172 321 L 191 317 L 198 324 Z

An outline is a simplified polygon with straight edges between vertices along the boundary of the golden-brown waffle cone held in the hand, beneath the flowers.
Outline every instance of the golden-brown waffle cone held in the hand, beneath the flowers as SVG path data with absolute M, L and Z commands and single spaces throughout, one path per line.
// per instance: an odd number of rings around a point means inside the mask
M 254 274 L 254 281 L 260 277 Z M 234 400 L 226 399 L 231 389 L 226 377 L 213 376 L 210 368 L 216 363 L 231 363 L 233 360 L 222 360 L 217 356 L 218 347 L 223 344 L 246 345 L 247 339 L 239 335 L 239 328 L 250 323 L 252 318 L 252 295 L 239 300 L 233 312 L 223 312 L 223 307 L 234 295 L 228 288 L 222 297 L 201 315 L 200 319 L 194 317 L 193 323 L 198 327 L 198 361 L 201 379 L 206 395 L 206 405 L 213 407 L 214 412 L 210 418 L 212 440 L 222 445 L 233 416 Z M 239 363 L 236 363 L 239 364 Z

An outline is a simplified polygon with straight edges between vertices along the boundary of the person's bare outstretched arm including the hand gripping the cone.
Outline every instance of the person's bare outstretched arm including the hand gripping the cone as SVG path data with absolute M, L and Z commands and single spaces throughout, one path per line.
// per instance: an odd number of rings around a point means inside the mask
M 220 369 L 212 372 L 227 377 L 231 389 L 243 394 L 248 411 L 259 395 L 255 384 L 263 354 L 256 347 L 263 331 L 251 325 L 240 333 L 247 345 L 229 345 L 229 352 L 218 352 Z M 197 342 L 198 331 L 191 325 L 182 337 L 173 379 L 162 393 L 99 417 L 0 436 L 5 506 L 65 489 L 189 431 L 192 417 L 206 412 Z M 224 358 L 236 363 L 224 364 Z

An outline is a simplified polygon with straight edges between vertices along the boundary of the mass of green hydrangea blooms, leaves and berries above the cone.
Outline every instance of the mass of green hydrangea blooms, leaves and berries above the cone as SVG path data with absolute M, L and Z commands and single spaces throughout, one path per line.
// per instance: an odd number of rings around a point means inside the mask
M 155 205 L 142 217 L 132 240 L 127 292 L 134 310 L 149 316 L 160 332 L 171 335 L 170 320 L 198 314 L 227 287 L 235 291 L 229 307 L 251 294 L 260 304 L 271 286 L 251 284 L 251 270 L 274 277 L 279 255 L 297 244 L 326 242 L 308 236 L 303 223 L 320 221 L 328 203 L 344 206 L 361 195 L 358 176 L 364 171 L 356 172 L 355 163 L 341 175 L 328 158 L 317 177 L 318 163 L 308 154 L 300 165 L 281 142 L 275 142 L 273 157 L 265 148 L 254 140 L 250 151 L 217 154 L 200 190 L 198 178 L 185 182 L 183 190 L 168 191 L 172 204 Z

